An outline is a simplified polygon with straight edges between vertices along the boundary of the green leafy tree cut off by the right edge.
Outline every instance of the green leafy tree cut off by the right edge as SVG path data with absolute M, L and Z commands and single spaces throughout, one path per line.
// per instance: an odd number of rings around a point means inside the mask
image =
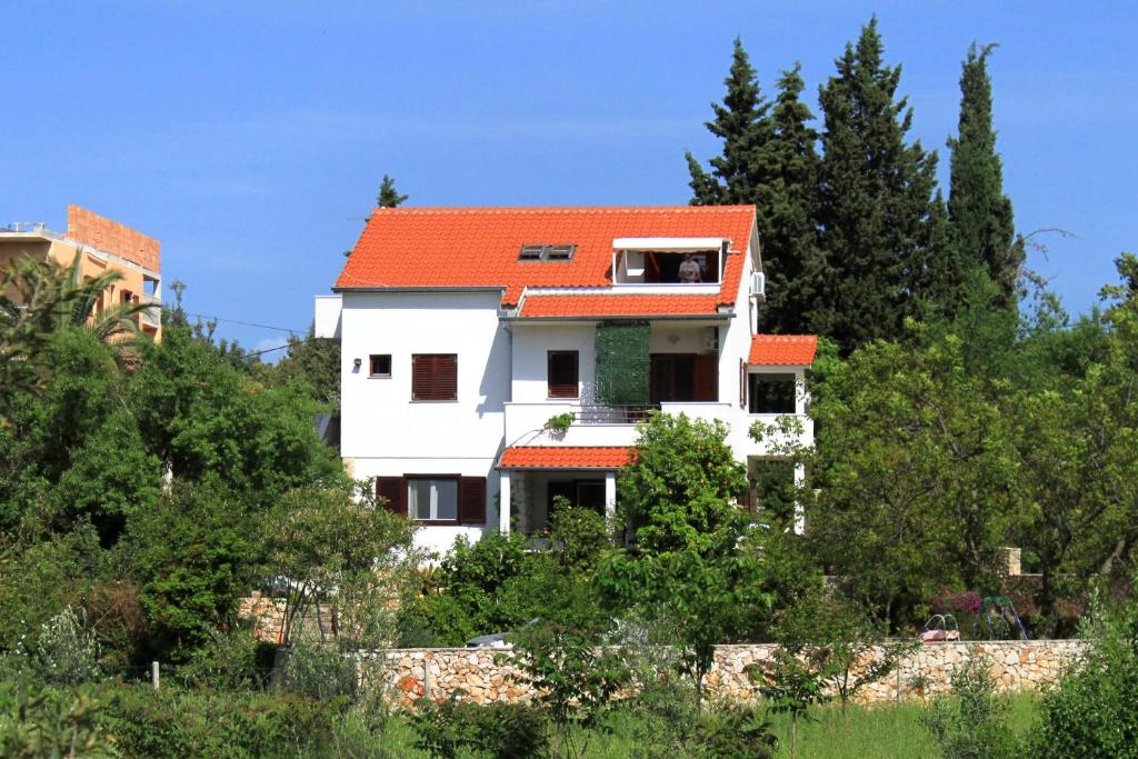
M 1029 521 L 1022 542 L 1039 560 L 1041 632 L 1056 605 L 1132 560 L 1138 545 L 1138 261 L 1118 261 L 1120 284 L 1104 288 L 1105 350 L 1081 377 L 1016 393 L 1008 409 L 1019 460 L 1015 494 Z

